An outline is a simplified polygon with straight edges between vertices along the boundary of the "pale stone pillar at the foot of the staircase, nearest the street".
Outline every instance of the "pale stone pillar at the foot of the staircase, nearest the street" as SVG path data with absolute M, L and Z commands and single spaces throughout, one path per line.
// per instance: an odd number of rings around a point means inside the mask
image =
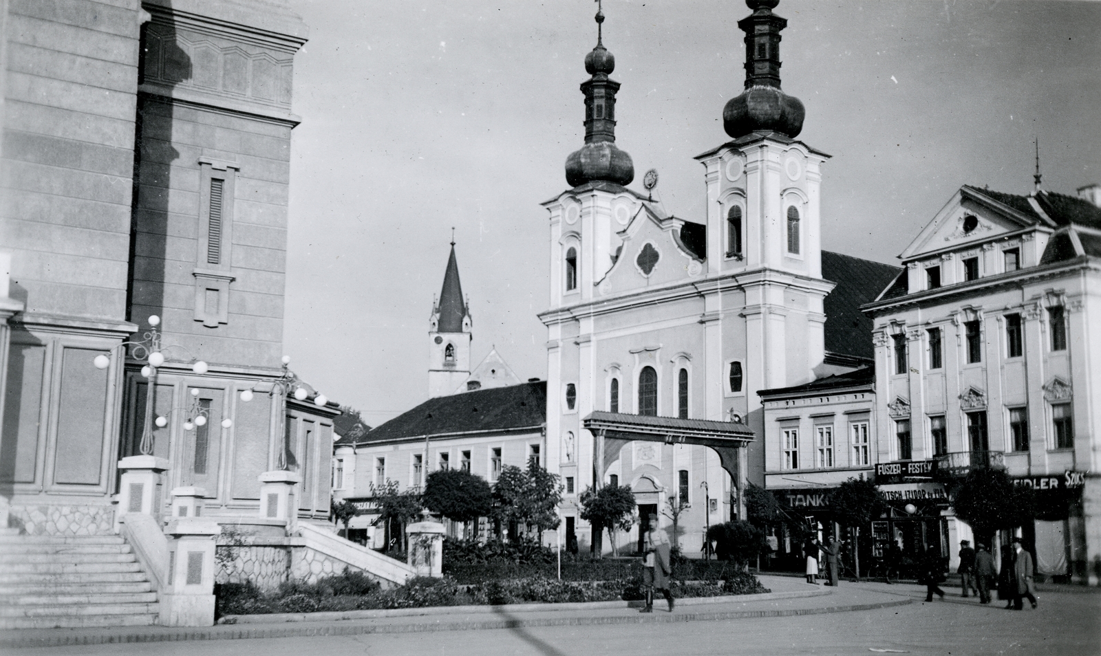
M 214 626 L 215 548 L 221 526 L 209 520 L 175 520 L 166 529 L 167 584 L 161 594 L 164 626 Z

